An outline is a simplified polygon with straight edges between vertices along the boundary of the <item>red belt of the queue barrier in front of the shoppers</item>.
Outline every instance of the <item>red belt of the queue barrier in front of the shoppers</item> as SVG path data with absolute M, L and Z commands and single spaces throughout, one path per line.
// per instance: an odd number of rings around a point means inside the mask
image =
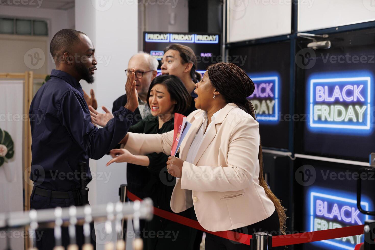
M 127 191 L 127 197 L 131 201 L 142 199 L 138 196 L 134 195 L 133 193 Z M 178 214 L 174 214 L 160 208 L 154 207 L 154 214 L 156 216 L 162 217 L 167 220 L 171 220 L 172 222 L 177 222 L 185 226 L 189 226 L 190 228 L 195 228 L 200 231 L 204 231 L 208 234 L 217 235 L 219 237 L 237 241 L 239 243 L 243 243 L 246 245 L 250 245 L 250 239 L 252 238 L 251 235 L 237 233 L 233 231 L 220 231 L 220 232 L 211 232 L 204 229 L 199 222 L 196 220 L 192 220 Z M 363 234 L 363 227 L 364 225 L 357 225 L 357 226 L 348 226 L 345 228 L 335 228 L 335 229 L 326 229 L 321 231 L 314 231 L 314 232 L 303 232 L 299 234 L 287 234 L 287 235 L 278 235 L 272 237 L 272 246 L 279 247 L 279 246 L 288 246 L 288 245 L 295 245 L 295 244 L 302 244 L 302 243 L 310 243 L 314 241 L 322 241 L 322 240 L 331 240 L 336 238 L 342 237 L 350 237 L 354 235 Z

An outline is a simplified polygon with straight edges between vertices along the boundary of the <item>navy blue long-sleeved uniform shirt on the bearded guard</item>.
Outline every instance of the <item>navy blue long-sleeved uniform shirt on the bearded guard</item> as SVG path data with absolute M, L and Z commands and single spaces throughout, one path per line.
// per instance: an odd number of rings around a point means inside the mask
M 42 189 L 69 191 L 80 188 L 79 162 L 100 159 L 124 138 L 134 113 L 121 107 L 107 126 L 91 123 L 80 83 L 71 75 L 52 70 L 30 105 L 32 137 L 30 179 Z

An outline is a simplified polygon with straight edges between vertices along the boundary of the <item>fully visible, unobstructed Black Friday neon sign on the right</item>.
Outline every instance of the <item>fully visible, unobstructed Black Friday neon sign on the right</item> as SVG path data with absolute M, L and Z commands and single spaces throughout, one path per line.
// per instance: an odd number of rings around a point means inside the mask
M 309 129 L 369 133 L 372 81 L 368 72 L 312 75 L 308 81 Z

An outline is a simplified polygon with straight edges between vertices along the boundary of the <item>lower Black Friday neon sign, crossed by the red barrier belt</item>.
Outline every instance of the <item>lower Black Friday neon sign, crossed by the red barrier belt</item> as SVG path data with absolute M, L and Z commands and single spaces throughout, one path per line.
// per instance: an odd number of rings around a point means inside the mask
M 362 225 L 369 219 L 368 215 L 361 214 L 357 209 L 355 195 L 336 192 L 332 189 L 311 189 L 308 193 L 310 211 L 308 225 L 311 232 L 345 226 Z M 369 209 L 368 199 L 362 199 L 361 205 Z M 332 240 L 317 241 L 312 244 L 327 249 L 354 249 L 356 244 L 363 241 L 363 235 L 337 238 Z

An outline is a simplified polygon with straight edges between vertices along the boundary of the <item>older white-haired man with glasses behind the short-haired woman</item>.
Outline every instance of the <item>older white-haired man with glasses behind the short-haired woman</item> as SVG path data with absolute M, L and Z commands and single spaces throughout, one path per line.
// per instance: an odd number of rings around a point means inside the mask
M 138 108 L 134 111 L 135 117 L 133 125 L 151 113 L 150 107 L 147 105 L 146 97 L 151 81 L 156 77 L 157 66 L 159 66 L 157 60 L 145 52 L 139 52 L 133 55 L 127 64 L 127 69 L 125 70 L 126 75 L 129 74 L 131 68 L 135 69 L 134 80 L 139 102 Z M 126 103 L 126 101 L 126 94 L 118 97 L 117 100 L 113 102 L 112 112 L 124 106 L 123 103 Z

